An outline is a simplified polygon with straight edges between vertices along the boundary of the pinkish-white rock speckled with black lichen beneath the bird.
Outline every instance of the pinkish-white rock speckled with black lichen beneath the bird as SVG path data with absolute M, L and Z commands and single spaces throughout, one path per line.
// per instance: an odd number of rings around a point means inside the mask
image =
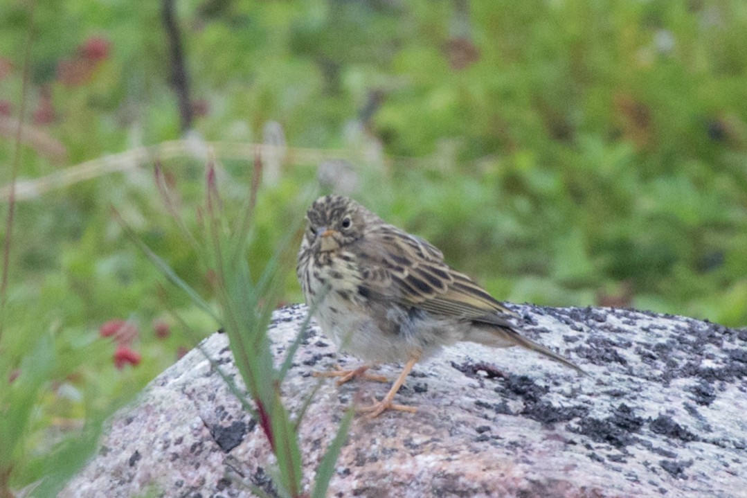
M 330 497 L 747 496 L 747 330 L 631 310 L 513 308 L 527 336 L 591 375 L 518 348 L 447 348 L 395 399 L 416 414 L 353 422 Z M 279 361 L 305 316 L 303 306 L 276 312 Z M 238 378 L 226 336 L 203 345 Z M 297 411 L 320 384 L 300 428 L 309 489 L 344 409 L 388 390 L 311 377 L 335 363 L 359 365 L 312 326 L 282 387 Z M 377 373 L 394 379 L 397 368 Z M 272 469 L 260 428 L 194 350 L 114 417 L 61 496 L 251 497 L 249 482 L 273 495 Z

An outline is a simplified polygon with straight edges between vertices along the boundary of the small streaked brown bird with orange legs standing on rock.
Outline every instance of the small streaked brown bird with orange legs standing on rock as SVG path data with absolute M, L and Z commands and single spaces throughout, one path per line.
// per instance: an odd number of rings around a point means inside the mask
M 368 375 L 379 363 L 403 363 L 386 396 L 359 408 L 369 418 L 415 412 L 394 396 L 418 361 L 447 345 L 477 342 L 521 346 L 586 374 L 580 366 L 519 333 L 518 314 L 471 277 L 454 270 L 441 250 L 340 195 L 326 195 L 306 212 L 297 277 L 306 304 L 338 351 L 364 361 L 357 369 L 317 372 L 338 384 Z

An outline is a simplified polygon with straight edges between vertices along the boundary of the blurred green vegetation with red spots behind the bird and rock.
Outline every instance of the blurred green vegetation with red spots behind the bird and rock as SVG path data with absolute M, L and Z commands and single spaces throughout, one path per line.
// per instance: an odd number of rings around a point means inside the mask
M 0 7 L 0 185 L 31 51 L 0 391 L 31 382 L 37 407 L 0 488 L 193 347 L 169 310 L 214 330 L 111 213 L 211 299 L 156 162 L 199 224 L 208 159 L 240 199 L 261 153 L 257 268 L 337 190 L 498 298 L 747 324 L 746 2 L 184 0 L 186 86 L 168 3 Z M 292 272 L 284 299 L 302 299 Z

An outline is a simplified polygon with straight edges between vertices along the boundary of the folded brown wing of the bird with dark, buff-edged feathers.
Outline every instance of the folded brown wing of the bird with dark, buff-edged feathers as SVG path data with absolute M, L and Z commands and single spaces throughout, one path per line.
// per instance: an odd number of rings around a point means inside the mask
M 386 225 L 359 242 L 364 292 L 436 315 L 493 325 L 510 325 L 506 318 L 516 316 L 470 277 L 450 268 L 441 251 L 419 237 Z

